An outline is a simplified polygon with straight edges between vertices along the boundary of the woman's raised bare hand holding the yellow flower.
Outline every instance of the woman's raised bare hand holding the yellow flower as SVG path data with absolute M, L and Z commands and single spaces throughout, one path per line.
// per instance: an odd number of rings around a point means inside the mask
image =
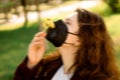
M 28 68 L 33 68 L 43 58 L 45 53 L 45 32 L 39 32 L 35 35 L 28 48 Z

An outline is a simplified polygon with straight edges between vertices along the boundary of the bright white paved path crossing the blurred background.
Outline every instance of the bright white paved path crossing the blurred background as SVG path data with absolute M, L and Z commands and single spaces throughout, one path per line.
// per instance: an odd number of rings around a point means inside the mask
M 41 18 L 48 18 L 48 17 L 52 17 L 52 16 L 57 16 L 60 15 L 61 13 L 68 13 L 68 12 L 72 12 L 75 11 L 76 8 L 89 8 L 89 7 L 93 7 L 95 5 L 99 4 L 99 1 L 93 0 L 93 1 L 80 1 L 77 2 L 75 4 L 72 5 L 68 5 L 68 6 L 61 6 L 61 7 L 56 7 L 50 10 L 46 10 L 46 11 L 42 11 L 40 13 L 40 17 Z M 28 12 L 28 19 L 29 21 L 35 21 L 38 19 L 38 13 L 37 12 Z M 18 24 L 22 24 L 24 23 L 25 18 L 23 15 L 21 15 L 20 17 L 17 16 L 13 16 L 7 23 L 4 23 L 2 25 L 0 25 L 0 30 L 4 30 L 7 28 L 5 28 L 5 26 L 15 26 Z M 14 28 L 14 27 L 13 27 Z

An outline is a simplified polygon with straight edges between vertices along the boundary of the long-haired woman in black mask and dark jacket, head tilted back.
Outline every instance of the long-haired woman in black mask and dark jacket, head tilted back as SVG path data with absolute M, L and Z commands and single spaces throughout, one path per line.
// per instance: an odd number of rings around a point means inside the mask
M 35 35 L 14 80 L 119 80 L 112 41 L 100 16 L 77 9 L 55 27 Z M 58 50 L 43 58 L 46 38 Z

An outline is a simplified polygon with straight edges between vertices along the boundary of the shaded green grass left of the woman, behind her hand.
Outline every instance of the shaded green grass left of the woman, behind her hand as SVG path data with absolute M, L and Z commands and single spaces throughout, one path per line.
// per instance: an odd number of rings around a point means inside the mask
M 37 24 L 31 26 L 0 32 L 0 80 L 12 80 L 16 67 L 26 56 L 30 41 L 39 31 Z M 54 47 L 49 44 L 46 53 L 53 50 Z

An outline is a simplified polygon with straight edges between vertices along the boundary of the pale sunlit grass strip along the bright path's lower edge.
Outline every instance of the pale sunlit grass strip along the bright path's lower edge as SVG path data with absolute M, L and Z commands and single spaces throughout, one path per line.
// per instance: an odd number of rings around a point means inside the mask
M 65 16 L 67 16 L 69 14 L 70 14 L 70 12 L 65 12 L 65 13 L 62 13 L 62 14 L 57 14 L 57 15 L 60 15 L 59 17 L 51 16 L 51 17 L 46 17 L 46 18 L 51 18 L 55 21 L 55 20 L 58 20 L 58 19 L 63 19 Z M 44 19 L 46 19 L 46 18 L 42 17 L 42 18 L 40 18 L 40 21 L 44 21 Z M 0 31 L 10 31 L 10 30 L 15 30 L 15 29 L 19 29 L 19 28 L 23 27 L 25 19 L 24 18 L 20 18 L 20 19 L 21 20 L 18 20 L 18 21 L 16 21 L 17 20 L 16 19 L 15 22 L 12 21 L 12 22 L 0 25 Z M 31 24 L 33 24 L 35 22 L 38 22 L 37 16 L 34 19 L 30 19 L 30 17 L 29 17 L 28 18 L 28 23 L 24 27 L 29 27 Z

